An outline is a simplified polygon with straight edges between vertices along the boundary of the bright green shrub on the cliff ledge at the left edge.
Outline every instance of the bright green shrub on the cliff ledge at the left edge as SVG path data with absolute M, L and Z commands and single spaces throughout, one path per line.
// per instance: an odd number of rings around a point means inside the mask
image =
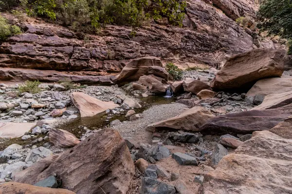
M 7 20 L 0 16 L 0 41 L 4 41 L 9 36 L 18 33 L 21 33 L 21 30 L 18 26 L 8 24 Z

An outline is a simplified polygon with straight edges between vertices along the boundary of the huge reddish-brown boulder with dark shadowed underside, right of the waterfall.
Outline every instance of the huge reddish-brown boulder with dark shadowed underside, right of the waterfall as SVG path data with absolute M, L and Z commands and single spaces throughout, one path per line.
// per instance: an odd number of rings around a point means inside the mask
M 284 53 L 275 49 L 253 49 L 229 58 L 210 86 L 215 90 L 249 89 L 263 78 L 280 77 Z

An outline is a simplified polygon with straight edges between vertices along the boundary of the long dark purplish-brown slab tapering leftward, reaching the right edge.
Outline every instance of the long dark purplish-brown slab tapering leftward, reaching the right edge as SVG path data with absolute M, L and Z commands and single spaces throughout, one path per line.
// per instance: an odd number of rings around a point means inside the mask
M 292 104 L 276 109 L 252 110 L 216 116 L 201 126 L 201 133 L 240 133 L 269 130 L 292 114 Z

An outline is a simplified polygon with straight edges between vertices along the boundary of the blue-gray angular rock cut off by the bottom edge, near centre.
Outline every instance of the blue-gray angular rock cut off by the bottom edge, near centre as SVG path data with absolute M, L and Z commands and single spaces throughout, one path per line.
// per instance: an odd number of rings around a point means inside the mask
M 164 182 L 144 177 L 142 179 L 141 194 L 175 194 L 175 188 Z

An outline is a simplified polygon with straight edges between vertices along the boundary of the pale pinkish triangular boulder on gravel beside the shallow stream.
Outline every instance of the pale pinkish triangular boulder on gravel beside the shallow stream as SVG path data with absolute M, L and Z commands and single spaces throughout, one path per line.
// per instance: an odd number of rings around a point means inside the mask
M 79 109 L 81 117 L 94 116 L 108 109 L 119 107 L 113 102 L 104 102 L 82 92 L 73 92 L 70 95 L 70 99 L 75 107 Z

